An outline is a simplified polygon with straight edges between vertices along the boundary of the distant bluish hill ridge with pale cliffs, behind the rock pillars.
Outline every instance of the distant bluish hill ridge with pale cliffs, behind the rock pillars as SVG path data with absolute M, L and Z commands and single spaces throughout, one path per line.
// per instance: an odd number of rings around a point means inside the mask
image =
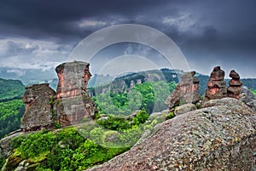
M 184 71 L 182 70 L 170 70 L 163 68 L 160 70 L 131 72 L 126 75 L 116 77 L 114 80 L 111 80 L 112 77 L 101 75 L 100 77 L 92 77 L 90 82 L 90 89 L 93 89 L 96 86 L 96 93 L 102 94 L 109 87 L 112 88 L 114 92 L 127 91 L 129 88 L 131 88 L 133 83 L 136 84 L 149 81 L 158 82 L 161 80 L 164 80 L 167 83 L 179 83 L 180 77 L 183 75 L 183 73 Z M 207 89 L 209 76 L 196 72 L 195 77 L 198 77 L 200 80 L 198 89 L 199 94 L 204 95 Z M 225 79 L 227 87 L 229 85 L 229 81 L 230 79 Z M 246 86 L 249 89 L 256 89 L 256 78 L 241 78 L 241 82 L 243 83 L 243 86 Z M 95 92 L 93 94 L 95 94 Z

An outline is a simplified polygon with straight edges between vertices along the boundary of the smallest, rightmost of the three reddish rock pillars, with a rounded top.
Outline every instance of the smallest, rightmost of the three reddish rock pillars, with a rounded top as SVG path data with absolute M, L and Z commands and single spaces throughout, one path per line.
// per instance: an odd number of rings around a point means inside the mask
M 228 96 L 239 100 L 242 85 L 240 81 L 240 76 L 235 70 L 232 70 L 230 71 L 230 77 L 232 79 L 229 82 Z

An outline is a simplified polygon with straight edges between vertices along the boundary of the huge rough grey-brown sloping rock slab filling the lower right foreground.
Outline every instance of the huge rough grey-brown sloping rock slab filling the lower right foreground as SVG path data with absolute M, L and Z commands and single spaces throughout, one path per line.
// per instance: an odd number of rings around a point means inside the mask
M 234 98 L 205 105 L 160 123 L 130 151 L 88 171 L 253 170 L 256 116 Z

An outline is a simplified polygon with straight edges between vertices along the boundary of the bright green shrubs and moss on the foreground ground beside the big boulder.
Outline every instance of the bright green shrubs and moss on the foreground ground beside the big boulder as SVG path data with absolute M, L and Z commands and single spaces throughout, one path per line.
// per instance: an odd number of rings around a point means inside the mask
M 11 142 L 13 152 L 7 169 L 13 170 L 26 160 L 29 170 L 84 170 L 128 151 L 146 129 L 153 131 L 154 125 L 162 121 L 159 117 L 148 118 L 142 110 L 136 117 L 110 115 L 106 120 L 76 128 L 22 135 Z M 2 166 L 3 161 L 0 159 Z

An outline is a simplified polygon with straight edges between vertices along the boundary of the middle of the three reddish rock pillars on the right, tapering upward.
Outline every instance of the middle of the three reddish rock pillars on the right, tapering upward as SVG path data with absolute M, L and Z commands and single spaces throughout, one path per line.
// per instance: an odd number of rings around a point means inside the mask
M 224 82 L 225 72 L 220 69 L 220 66 L 213 68 L 209 81 L 207 83 L 207 90 L 203 103 L 208 100 L 217 100 L 227 97 L 226 83 Z

